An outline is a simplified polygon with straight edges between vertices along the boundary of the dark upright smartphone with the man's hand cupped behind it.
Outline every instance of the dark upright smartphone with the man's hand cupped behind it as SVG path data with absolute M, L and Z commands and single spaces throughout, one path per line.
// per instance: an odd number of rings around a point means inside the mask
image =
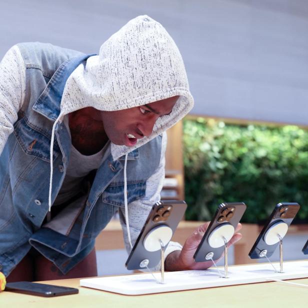
M 231 224 L 235 229 L 245 210 L 246 204 L 243 202 L 221 203 L 218 205 L 217 210 L 193 255 L 196 262 L 208 261 L 206 256 L 209 254 L 211 254 L 213 260 L 217 260 L 221 256 L 224 250 L 224 245 L 216 248 L 210 246 L 208 242 L 210 233 L 216 227 L 223 224 Z

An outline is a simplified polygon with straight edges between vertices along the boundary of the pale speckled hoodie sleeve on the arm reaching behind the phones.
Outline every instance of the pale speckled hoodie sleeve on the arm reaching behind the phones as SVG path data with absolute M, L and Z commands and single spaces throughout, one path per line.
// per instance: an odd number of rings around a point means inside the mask
M 163 132 L 160 162 L 155 172 L 146 181 L 145 196 L 142 199 L 138 199 L 128 204 L 128 221 L 129 221 L 129 230 L 130 230 L 132 245 L 137 239 L 153 204 L 160 200 L 160 191 L 164 179 L 164 165 L 165 165 L 164 153 L 166 149 L 166 144 L 167 144 L 167 134 L 166 132 Z M 129 252 L 131 249 L 128 242 L 128 236 L 124 218 L 125 217 L 124 208 L 120 208 L 119 217 L 123 230 L 125 247 L 126 250 Z M 181 250 L 181 248 L 182 246 L 179 243 L 170 241 L 167 248 L 165 249 L 165 258 L 172 251 Z M 153 270 L 159 270 L 159 269 L 160 269 L 160 262 Z

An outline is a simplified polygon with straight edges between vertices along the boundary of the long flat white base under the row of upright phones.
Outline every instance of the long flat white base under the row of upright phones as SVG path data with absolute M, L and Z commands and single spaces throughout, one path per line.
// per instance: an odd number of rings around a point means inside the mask
M 279 270 L 279 263 L 273 263 Z M 219 268 L 223 272 L 223 267 Z M 265 282 L 273 279 L 308 277 L 308 260 L 283 263 L 283 273 L 274 272 L 269 263 L 229 266 L 229 278 L 220 277 L 215 268 L 206 270 L 169 271 L 164 274 L 164 283 L 157 283 L 151 274 L 132 274 L 81 279 L 80 286 L 126 295 L 140 295 L 179 290 L 190 290 L 234 284 Z M 159 279 L 159 273 L 154 273 Z

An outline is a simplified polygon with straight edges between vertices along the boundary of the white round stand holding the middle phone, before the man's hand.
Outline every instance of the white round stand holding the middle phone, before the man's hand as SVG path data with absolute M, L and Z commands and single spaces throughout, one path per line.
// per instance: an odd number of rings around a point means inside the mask
M 208 236 L 208 244 L 212 248 L 218 248 L 224 245 L 224 276 L 222 278 L 228 278 L 228 248 L 227 243 L 234 234 L 234 227 L 229 223 L 224 223 L 214 228 Z M 208 252 L 205 255 L 205 259 L 212 259 L 214 253 Z

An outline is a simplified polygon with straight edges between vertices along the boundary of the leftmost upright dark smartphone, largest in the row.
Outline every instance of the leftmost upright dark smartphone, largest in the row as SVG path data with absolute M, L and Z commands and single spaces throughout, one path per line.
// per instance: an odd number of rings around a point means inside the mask
M 144 269 L 144 266 L 140 265 L 142 260 L 148 260 L 147 266 L 149 268 L 155 267 L 159 263 L 161 259 L 160 249 L 155 251 L 146 249 L 146 236 L 154 229 L 157 229 L 158 226 L 169 227 L 167 229 L 170 232 L 172 231 L 171 235 L 173 235 L 178 222 L 185 213 L 186 207 L 185 201 L 178 200 L 159 201 L 153 205 L 125 262 L 127 269 Z M 168 243 L 164 245 L 164 249 L 167 245 Z

